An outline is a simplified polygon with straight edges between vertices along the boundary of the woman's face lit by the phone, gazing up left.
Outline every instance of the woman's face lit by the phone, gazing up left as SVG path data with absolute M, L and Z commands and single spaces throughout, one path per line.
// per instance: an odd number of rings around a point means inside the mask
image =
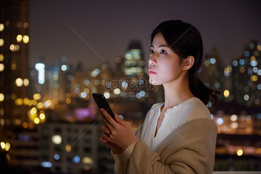
M 182 66 L 176 55 L 167 45 L 161 32 L 154 36 L 149 59 L 149 76 L 152 85 L 173 82 L 182 76 Z

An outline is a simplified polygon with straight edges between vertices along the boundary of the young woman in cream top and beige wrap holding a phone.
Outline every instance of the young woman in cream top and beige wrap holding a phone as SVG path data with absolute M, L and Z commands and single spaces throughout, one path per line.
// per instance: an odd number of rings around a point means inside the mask
M 166 21 L 151 33 L 150 83 L 164 86 L 165 102 L 154 104 L 135 132 L 101 109 L 99 140 L 111 147 L 115 173 L 213 172 L 217 126 L 206 105 L 213 107 L 219 92 L 196 74 L 202 56 L 201 35 L 191 24 Z

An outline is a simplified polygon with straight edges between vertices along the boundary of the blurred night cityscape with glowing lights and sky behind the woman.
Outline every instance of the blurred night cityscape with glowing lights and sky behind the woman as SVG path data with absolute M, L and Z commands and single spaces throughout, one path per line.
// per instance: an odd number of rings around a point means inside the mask
M 169 19 L 200 30 L 197 74 L 221 92 L 213 110 L 207 104 L 218 127 L 214 171 L 261 171 L 260 7 L 1 0 L 0 172 L 113 173 L 92 93 L 103 94 L 133 130 L 141 125 L 164 102 L 163 85 L 149 83 L 147 62 L 150 32 Z

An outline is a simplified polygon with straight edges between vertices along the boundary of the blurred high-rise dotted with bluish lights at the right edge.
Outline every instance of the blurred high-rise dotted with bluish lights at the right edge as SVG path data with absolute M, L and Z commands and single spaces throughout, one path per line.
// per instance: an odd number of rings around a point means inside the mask
M 253 41 L 233 64 L 233 93 L 235 102 L 260 108 L 261 105 L 261 45 Z

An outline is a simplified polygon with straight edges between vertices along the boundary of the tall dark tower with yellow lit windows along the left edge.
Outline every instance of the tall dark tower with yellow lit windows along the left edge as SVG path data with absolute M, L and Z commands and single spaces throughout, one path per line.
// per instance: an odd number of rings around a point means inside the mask
M 25 123 L 27 127 L 29 1 L 3 0 L 0 3 L 1 125 Z

